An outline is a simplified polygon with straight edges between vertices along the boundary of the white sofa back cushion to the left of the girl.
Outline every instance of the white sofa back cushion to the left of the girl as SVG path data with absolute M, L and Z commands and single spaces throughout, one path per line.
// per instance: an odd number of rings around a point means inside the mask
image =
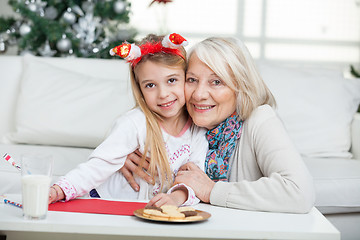
M 128 65 L 122 60 L 106 61 L 113 66 L 112 78 L 54 67 L 50 59 L 26 56 L 23 60 L 15 131 L 6 136 L 12 143 L 95 148 L 114 120 L 134 105 Z M 75 69 L 82 62 L 77 59 Z M 83 64 L 84 70 L 101 69 L 96 61 Z M 103 73 L 108 74 L 106 69 Z

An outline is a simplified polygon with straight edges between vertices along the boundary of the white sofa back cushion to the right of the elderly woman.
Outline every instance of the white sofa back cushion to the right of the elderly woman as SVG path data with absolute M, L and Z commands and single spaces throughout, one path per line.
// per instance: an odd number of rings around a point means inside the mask
M 260 63 L 278 114 L 306 157 L 350 158 L 351 120 L 360 103 L 360 81 L 341 71 Z

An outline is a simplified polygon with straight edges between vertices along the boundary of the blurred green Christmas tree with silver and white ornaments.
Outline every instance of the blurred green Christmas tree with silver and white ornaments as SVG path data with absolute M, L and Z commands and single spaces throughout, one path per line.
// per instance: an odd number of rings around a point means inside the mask
M 20 18 L 0 17 L 0 53 L 17 45 L 19 54 L 110 58 L 110 48 L 136 35 L 126 0 L 8 2 Z

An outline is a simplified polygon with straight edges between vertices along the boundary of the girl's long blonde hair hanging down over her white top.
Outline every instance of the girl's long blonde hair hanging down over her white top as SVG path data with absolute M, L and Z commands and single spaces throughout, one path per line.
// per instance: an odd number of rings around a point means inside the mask
M 138 45 L 145 43 L 158 43 L 161 42 L 163 36 L 157 36 L 150 34 L 145 37 Z M 168 161 L 168 155 L 165 149 L 164 139 L 162 136 L 162 131 L 159 125 L 158 120 L 161 120 L 161 116 L 157 113 L 151 111 L 148 105 L 145 102 L 144 96 L 141 92 L 139 81 L 136 78 L 136 71 L 141 65 L 146 61 L 152 61 L 157 64 L 166 65 L 169 67 L 181 67 L 186 71 L 186 51 L 183 47 L 180 48 L 182 58 L 179 55 L 169 54 L 164 52 L 158 52 L 155 54 L 148 54 L 142 56 L 141 60 L 132 67 L 130 64 L 130 79 L 131 79 L 131 88 L 135 98 L 136 107 L 140 109 L 145 114 L 146 118 L 146 140 L 145 140 L 145 150 L 142 156 L 141 163 L 139 164 L 138 171 L 142 171 L 142 168 L 145 163 L 145 158 L 147 153 L 150 150 L 150 166 L 148 173 L 150 176 L 155 179 L 159 175 L 161 180 L 161 189 L 166 186 L 169 187 L 172 184 L 173 176 L 170 169 L 170 164 Z M 156 71 L 156 70 L 155 70 Z

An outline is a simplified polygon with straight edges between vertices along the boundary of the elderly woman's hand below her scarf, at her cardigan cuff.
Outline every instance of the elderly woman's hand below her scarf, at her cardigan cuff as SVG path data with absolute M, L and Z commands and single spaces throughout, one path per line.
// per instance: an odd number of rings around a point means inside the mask
M 184 183 L 192 188 L 196 196 L 205 203 L 210 203 L 210 194 L 215 185 L 204 171 L 189 162 L 180 167 L 175 183 Z

